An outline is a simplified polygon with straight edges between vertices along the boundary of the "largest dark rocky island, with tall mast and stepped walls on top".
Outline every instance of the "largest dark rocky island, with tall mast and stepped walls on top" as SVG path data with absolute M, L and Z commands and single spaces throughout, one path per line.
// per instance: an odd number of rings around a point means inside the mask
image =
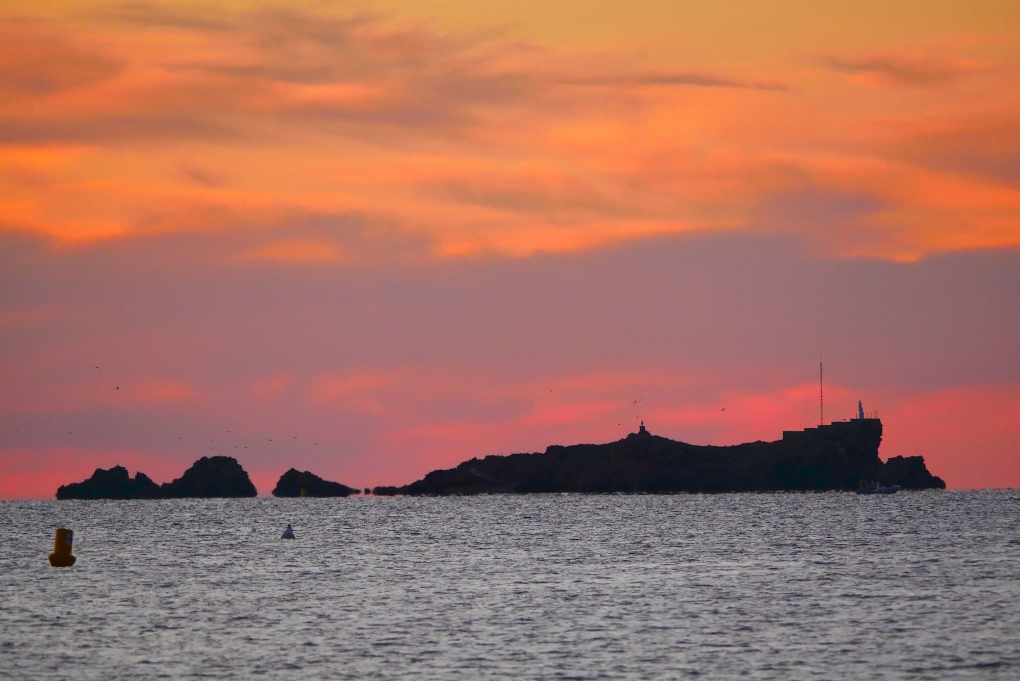
M 687 444 L 652 435 L 643 424 L 639 432 L 615 442 L 554 444 L 544 454 L 471 459 L 456 468 L 432 471 L 417 482 L 379 486 L 373 491 L 392 495 L 855 489 L 858 480 L 880 477 L 881 439 L 878 419 L 787 430 L 782 439 L 773 442 L 732 447 Z M 899 471 L 899 465 L 892 464 L 888 470 Z M 909 472 L 903 478 L 907 481 L 904 487 L 945 486 L 921 461 L 907 464 L 904 470 Z

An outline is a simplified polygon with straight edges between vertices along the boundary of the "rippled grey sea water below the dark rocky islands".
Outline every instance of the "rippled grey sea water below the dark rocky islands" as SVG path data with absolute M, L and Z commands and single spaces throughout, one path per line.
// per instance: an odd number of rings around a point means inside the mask
M 1018 679 L 1018 520 L 1009 490 L 0 503 L 0 677 Z

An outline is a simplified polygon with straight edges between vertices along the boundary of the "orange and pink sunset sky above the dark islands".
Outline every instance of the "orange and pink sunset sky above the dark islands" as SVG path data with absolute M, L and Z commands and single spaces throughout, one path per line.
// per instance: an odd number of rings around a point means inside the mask
M 1020 4 L 0 6 L 0 499 L 636 430 L 1020 487 Z

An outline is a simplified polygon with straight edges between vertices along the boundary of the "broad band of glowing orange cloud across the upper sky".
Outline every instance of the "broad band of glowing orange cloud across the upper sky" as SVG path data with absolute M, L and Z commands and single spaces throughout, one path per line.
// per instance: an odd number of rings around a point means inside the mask
M 923 86 L 908 96 L 928 99 L 904 108 L 848 99 L 843 78 L 818 86 L 818 61 L 645 60 L 300 4 L 124 3 L 2 31 L 0 62 L 28 64 L 0 67 L 0 145 L 21 150 L 0 159 L 3 221 L 64 244 L 240 229 L 239 213 L 358 214 L 416 234 L 419 255 L 530 255 L 759 229 L 775 197 L 787 217 L 819 213 L 803 187 L 882 206 L 853 220 L 771 220 L 827 252 L 916 258 L 1017 241 L 1004 228 L 1013 198 L 992 187 L 1015 184 L 1010 152 L 960 126 L 975 117 L 967 107 L 1013 116 L 990 94 L 1008 69 L 982 70 L 989 58 L 967 46 L 819 58 L 854 81 Z M 977 94 L 944 101 L 934 86 L 950 82 Z M 959 139 L 922 139 L 935 115 Z M 76 157 L 42 163 L 54 150 Z M 930 188 L 951 185 L 949 211 Z M 282 233 L 239 252 L 311 266 L 325 250 L 309 244 L 344 254 L 338 263 L 371 250 Z M 406 256 L 371 257 L 382 253 Z

